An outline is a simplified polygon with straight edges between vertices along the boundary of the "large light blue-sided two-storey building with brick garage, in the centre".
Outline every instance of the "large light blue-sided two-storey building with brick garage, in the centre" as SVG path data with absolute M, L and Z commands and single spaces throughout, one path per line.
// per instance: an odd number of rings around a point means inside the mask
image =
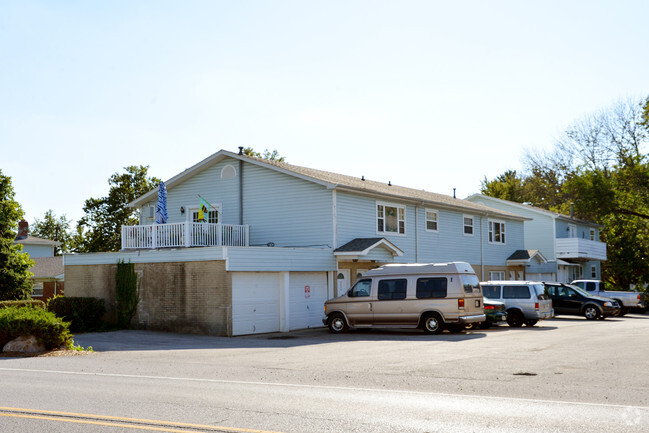
M 166 186 L 166 224 L 156 189 L 129 204 L 141 225 L 122 228 L 121 252 L 66 255 L 68 295 L 110 301 L 115 263 L 131 260 L 141 326 L 239 335 L 322 326 L 324 301 L 384 263 L 466 261 L 483 279 L 521 269 L 507 258 L 525 217 L 362 175 L 221 150 Z

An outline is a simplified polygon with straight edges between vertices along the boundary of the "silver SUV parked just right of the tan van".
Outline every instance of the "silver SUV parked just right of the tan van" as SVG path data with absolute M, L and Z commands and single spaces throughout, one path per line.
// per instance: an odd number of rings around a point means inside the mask
M 489 301 L 505 303 L 507 323 L 513 328 L 534 326 L 539 320 L 554 317 L 552 301 L 541 282 L 487 281 L 480 287 Z

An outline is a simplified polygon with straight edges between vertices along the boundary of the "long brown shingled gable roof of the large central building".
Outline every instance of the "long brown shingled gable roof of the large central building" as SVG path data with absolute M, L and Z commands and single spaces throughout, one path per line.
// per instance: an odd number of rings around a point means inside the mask
M 220 150 L 215 154 L 205 158 L 198 164 L 172 177 L 165 182 L 167 190 L 171 190 L 175 185 L 178 185 L 191 176 L 200 173 L 201 171 L 211 167 L 212 165 L 220 161 L 223 161 L 226 158 L 237 159 L 239 161 L 244 161 L 265 167 L 274 171 L 278 171 L 280 173 L 287 174 L 289 176 L 317 183 L 319 185 L 325 186 L 328 189 L 381 197 L 384 200 L 401 200 L 425 206 L 447 208 L 460 212 L 496 216 L 517 221 L 524 221 L 529 219 L 511 212 L 495 209 L 480 203 L 473 203 L 467 200 L 453 198 L 444 194 L 437 194 L 425 190 L 407 188 L 398 185 L 390 185 L 384 182 L 377 182 L 344 174 L 331 173 L 328 171 L 317 170 L 313 168 L 301 167 L 277 161 L 270 161 L 267 159 L 261 159 L 247 155 L 240 155 L 237 153 L 228 152 L 227 150 Z M 128 206 L 139 207 L 149 201 L 155 201 L 157 200 L 157 193 L 158 189 L 153 189 L 129 203 Z

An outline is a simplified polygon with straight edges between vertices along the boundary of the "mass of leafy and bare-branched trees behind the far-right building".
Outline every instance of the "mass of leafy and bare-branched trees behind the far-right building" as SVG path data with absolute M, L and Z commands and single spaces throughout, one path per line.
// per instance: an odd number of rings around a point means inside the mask
M 602 224 L 603 278 L 618 287 L 649 282 L 649 98 L 621 101 L 575 122 L 550 152 L 528 152 L 522 192 L 511 200 Z M 483 194 L 511 190 L 510 171 Z M 502 198 L 502 197 L 501 197 Z

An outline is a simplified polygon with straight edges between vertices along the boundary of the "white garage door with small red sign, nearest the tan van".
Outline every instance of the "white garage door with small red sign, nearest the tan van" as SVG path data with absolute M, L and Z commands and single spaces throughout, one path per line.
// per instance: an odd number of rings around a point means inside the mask
M 291 272 L 289 283 L 290 329 L 322 325 L 327 300 L 326 272 Z

